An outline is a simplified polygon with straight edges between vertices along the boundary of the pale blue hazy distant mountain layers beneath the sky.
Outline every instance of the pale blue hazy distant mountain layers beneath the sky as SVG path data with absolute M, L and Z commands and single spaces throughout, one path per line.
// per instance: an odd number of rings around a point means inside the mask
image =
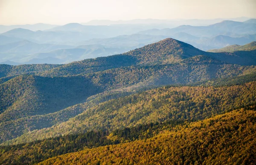
M 17 28 L 0 34 L 0 63 L 67 64 L 128 52 L 165 38 L 174 38 L 204 51 L 220 49 L 256 41 L 254 22 L 255 19 L 223 20 L 208 26 L 182 25 L 172 29 L 151 29 L 161 27 L 147 23 L 108 26 L 68 23 L 44 31 Z

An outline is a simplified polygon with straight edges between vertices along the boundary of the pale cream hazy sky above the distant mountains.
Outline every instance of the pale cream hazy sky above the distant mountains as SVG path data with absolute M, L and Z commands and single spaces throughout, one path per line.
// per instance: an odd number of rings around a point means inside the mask
M 256 0 L 0 0 L 0 24 L 256 17 Z

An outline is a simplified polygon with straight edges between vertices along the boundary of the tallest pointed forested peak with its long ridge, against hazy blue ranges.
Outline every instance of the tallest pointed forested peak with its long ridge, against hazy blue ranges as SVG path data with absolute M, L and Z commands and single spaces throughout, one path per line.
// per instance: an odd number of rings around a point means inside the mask
M 108 57 L 100 57 L 95 59 L 86 59 L 70 64 L 62 65 L 61 67 L 49 70 L 43 75 L 61 76 L 61 75 L 77 75 L 92 72 L 98 72 L 106 69 L 118 67 L 129 67 L 134 65 L 157 65 L 157 64 L 172 64 L 182 61 L 185 58 L 196 55 L 206 55 L 220 61 L 225 61 L 231 64 L 253 65 L 256 64 L 255 52 L 235 52 L 235 53 L 211 53 L 204 52 L 195 47 L 174 40 L 172 38 L 163 41 L 143 46 L 120 55 Z

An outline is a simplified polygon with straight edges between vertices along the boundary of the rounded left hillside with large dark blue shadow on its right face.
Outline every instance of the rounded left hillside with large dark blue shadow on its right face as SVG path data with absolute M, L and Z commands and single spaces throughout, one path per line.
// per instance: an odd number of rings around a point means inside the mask
M 0 119 L 4 122 L 52 113 L 100 91 L 86 78 L 21 75 L 0 84 Z

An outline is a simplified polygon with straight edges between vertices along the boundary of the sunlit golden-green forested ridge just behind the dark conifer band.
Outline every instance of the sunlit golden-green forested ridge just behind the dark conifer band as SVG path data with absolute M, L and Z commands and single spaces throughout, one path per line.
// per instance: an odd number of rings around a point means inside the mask
M 85 110 L 67 122 L 47 129 L 34 130 L 7 144 L 20 144 L 35 139 L 110 130 L 137 124 L 163 122 L 167 119 L 205 119 L 212 115 L 255 104 L 255 82 L 231 87 L 163 87 L 144 93 L 106 101 Z M 169 108 L 172 107 L 172 108 Z

